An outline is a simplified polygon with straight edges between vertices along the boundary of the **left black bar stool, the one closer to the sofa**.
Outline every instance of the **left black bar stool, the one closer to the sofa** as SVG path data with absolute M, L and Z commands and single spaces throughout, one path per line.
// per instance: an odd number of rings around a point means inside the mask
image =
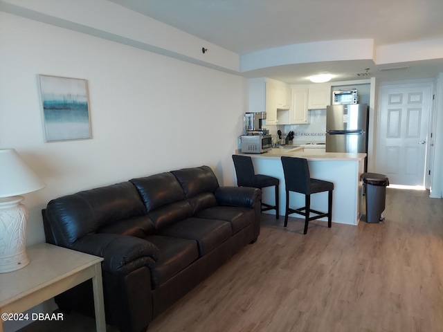
M 254 187 L 261 190 L 264 187 L 275 186 L 275 205 L 262 202 L 262 212 L 275 210 L 275 219 L 278 219 L 278 185 L 280 180 L 273 176 L 255 174 L 251 157 L 233 154 L 233 161 L 239 187 Z

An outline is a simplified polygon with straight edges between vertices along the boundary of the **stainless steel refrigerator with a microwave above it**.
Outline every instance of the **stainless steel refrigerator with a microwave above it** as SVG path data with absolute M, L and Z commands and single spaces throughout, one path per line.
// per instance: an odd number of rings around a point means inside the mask
M 367 154 L 368 122 L 367 104 L 328 106 L 326 109 L 326 152 Z

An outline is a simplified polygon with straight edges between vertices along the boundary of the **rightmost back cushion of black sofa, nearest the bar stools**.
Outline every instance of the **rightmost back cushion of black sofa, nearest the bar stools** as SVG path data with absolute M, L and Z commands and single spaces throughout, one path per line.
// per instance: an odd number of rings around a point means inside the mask
M 183 188 L 193 214 L 217 205 L 213 192 L 219 187 L 219 182 L 210 167 L 184 168 L 171 173 Z

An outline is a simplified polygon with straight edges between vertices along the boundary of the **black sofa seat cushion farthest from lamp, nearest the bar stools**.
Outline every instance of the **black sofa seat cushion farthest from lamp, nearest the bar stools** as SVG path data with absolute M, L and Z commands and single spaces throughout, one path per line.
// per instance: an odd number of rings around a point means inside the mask
M 254 210 L 237 206 L 215 206 L 195 214 L 197 218 L 219 219 L 230 223 L 233 234 L 252 223 L 255 218 Z

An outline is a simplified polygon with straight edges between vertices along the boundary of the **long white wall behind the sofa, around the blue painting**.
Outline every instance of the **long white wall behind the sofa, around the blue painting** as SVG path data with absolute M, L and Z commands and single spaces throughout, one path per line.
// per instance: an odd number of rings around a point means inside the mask
M 64 194 L 199 165 L 234 183 L 244 78 L 6 12 L 0 45 L 0 148 L 47 185 L 25 195 L 28 245 L 44 241 L 40 210 Z M 88 80 L 92 140 L 44 142 L 38 74 Z

